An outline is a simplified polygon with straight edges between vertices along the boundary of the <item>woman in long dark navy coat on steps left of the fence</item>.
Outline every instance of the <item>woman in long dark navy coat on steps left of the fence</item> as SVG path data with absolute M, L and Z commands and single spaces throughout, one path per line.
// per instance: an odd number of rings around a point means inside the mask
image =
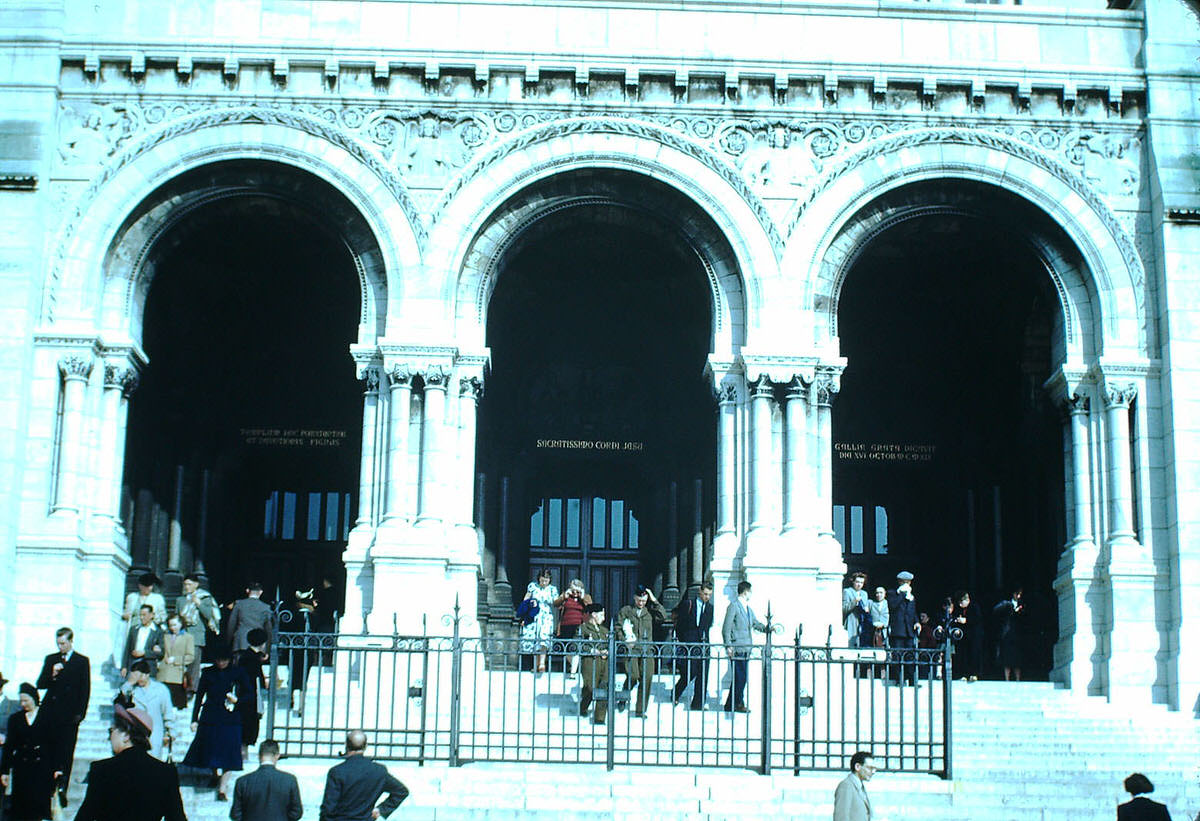
M 238 703 L 252 697 L 253 683 L 244 667 L 230 663 L 229 648 L 214 648 L 215 664 L 200 673 L 192 705 L 196 738 L 184 756 L 188 767 L 211 769 L 217 778 L 217 801 L 229 799 L 229 781 L 241 769 L 242 713 Z

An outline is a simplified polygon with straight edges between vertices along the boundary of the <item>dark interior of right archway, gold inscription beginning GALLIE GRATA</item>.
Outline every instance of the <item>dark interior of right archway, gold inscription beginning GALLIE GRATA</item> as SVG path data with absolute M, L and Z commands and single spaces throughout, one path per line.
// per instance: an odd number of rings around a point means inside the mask
M 850 270 L 834 403 L 834 520 L 871 587 L 916 574 L 918 607 L 1024 585 L 1026 677 L 1057 637 L 1063 455 L 1043 389 L 1057 295 L 1032 246 L 961 214 L 899 222 Z

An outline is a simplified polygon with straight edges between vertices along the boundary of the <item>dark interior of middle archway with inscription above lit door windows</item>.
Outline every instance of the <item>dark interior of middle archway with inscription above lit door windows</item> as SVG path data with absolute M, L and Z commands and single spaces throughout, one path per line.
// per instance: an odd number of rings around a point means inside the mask
M 503 259 L 480 465 L 516 598 L 530 565 L 612 607 L 636 583 L 677 597 L 697 581 L 677 559 L 668 589 L 671 557 L 714 515 L 710 302 L 678 230 L 619 205 L 550 215 Z

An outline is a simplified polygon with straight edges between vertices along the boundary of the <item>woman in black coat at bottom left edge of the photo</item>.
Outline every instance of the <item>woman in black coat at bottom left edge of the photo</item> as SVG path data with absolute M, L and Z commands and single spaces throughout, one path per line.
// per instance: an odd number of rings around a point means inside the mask
M 37 689 L 20 685 L 20 709 L 8 717 L 0 784 L 12 789 L 13 821 L 42 821 L 50 817 L 54 795 L 54 763 L 50 736 L 38 718 Z

